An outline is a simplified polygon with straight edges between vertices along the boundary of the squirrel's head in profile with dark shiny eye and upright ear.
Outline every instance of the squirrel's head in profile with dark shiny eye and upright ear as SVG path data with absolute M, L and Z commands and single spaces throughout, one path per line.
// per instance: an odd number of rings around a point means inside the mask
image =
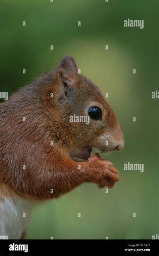
M 58 142 L 71 157 L 88 159 L 91 147 L 102 152 L 120 151 L 124 138 L 104 95 L 93 82 L 78 74 L 75 60 L 65 56 L 53 75 L 47 114 Z

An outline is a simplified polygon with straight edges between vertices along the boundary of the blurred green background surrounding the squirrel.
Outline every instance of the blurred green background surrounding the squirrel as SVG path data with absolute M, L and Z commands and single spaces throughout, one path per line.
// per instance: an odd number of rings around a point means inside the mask
M 158 99 L 151 98 L 158 89 L 157 13 L 155 0 L 1 0 L 0 90 L 11 95 L 69 54 L 81 73 L 109 94 L 108 102 L 119 90 L 111 107 L 126 127 L 123 151 L 106 156 L 121 181 L 108 194 L 84 184 L 35 208 L 27 238 L 151 239 L 159 234 Z M 124 27 L 128 18 L 144 20 L 144 29 Z M 144 172 L 124 171 L 127 162 L 144 163 Z

